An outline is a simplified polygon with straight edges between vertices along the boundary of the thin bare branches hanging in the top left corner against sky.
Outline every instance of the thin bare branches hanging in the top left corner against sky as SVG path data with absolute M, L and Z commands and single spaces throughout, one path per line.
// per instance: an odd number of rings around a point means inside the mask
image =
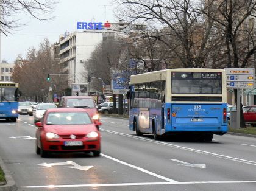
M 23 25 L 15 16 L 27 12 L 34 18 L 44 21 L 51 19 L 46 15 L 52 12 L 57 0 L 1 0 L 0 2 L 0 31 L 7 35 L 16 27 Z

